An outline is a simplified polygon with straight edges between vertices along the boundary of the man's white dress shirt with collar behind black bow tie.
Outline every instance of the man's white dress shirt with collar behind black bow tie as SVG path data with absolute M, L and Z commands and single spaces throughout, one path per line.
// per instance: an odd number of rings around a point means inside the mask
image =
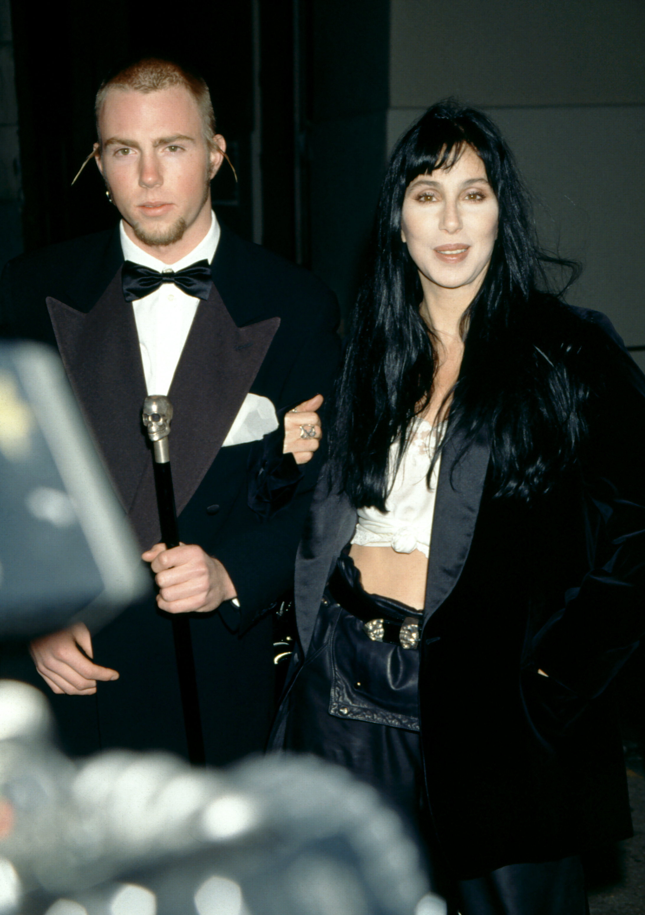
M 210 229 L 205 238 L 176 264 L 164 264 L 153 254 L 143 251 L 128 238 L 120 223 L 123 259 L 141 264 L 150 270 L 184 270 L 196 261 L 208 261 L 215 256 L 220 229 L 215 213 L 211 210 Z M 143 375 L 149 394 L 167 394 L 173 381 L 174 371 L 184 350 L 184 344 L 195 318 L 199 299 L 186 296 L 174 283 L 163 283 L 154 292 L 132 302 L 134 320 L 139 335 Z

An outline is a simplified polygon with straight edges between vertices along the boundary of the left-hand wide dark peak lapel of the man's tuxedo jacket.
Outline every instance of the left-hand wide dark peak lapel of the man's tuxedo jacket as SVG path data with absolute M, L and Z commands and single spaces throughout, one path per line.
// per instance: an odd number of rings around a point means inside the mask
M 121 268 L 87 314 L 55 298 L 47 305 L 69 382 L 128 511 L 150 454 L 141 423 L 141 351 Z

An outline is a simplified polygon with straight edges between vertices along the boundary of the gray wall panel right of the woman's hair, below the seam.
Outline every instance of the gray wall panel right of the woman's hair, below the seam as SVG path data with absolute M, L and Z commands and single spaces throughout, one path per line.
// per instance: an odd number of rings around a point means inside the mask
M 645 344 L 645 106 L 490 114 L 537 197 L 541 240 L 584 264 L 568 300 L 605 312 L 629 346 Z

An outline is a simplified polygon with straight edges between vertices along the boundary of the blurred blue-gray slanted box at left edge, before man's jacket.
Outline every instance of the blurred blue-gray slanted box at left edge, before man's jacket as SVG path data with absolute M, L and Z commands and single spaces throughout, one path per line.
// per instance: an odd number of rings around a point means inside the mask
M 119 447 L 119 442 L 114 443 Z M 58 356 L 0 342 L 0 633 L 98 627 L 150 587 Z

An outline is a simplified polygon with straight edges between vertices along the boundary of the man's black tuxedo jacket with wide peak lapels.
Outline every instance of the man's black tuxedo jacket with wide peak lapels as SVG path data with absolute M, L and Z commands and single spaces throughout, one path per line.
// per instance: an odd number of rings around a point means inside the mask
M 5 267 L 5 333 L 58 346 L 72 389 L 142 549 L 160 540 L 146 395 L 132 305 L 122 295 L 119 232 L 23 255 Z M 305 468 L 288 509 L 248 504 L 252 443 L 222 447 L 248 393 L 276 409 L 327 393 L 339 355 L 333 294 L 312 274 L 222 227 L 213 287 L 200 302 L 174 374 L 171 463 L 180 536 L 223 563 L 239 610 L 191 619 L 206 759 L 263 747 L 273 701 L 268 610 L 292 587 L 301 526 L 317 473 Z M 93 639 L 96 662 L 119 671 L 96 697 L 53 699 L 69 751 L 161 747 L 185 754 L 171 624 L 153 600 Z M 12 652 L 6 652 L 11 657 Z M 13 657 L 11 662 L 14 663 Z M 31 665 L 33 667 L 33 664 Z M 4 675 L 13 673 L 5 664 Z M 37 685 L 26 664 L 25 678 Z

